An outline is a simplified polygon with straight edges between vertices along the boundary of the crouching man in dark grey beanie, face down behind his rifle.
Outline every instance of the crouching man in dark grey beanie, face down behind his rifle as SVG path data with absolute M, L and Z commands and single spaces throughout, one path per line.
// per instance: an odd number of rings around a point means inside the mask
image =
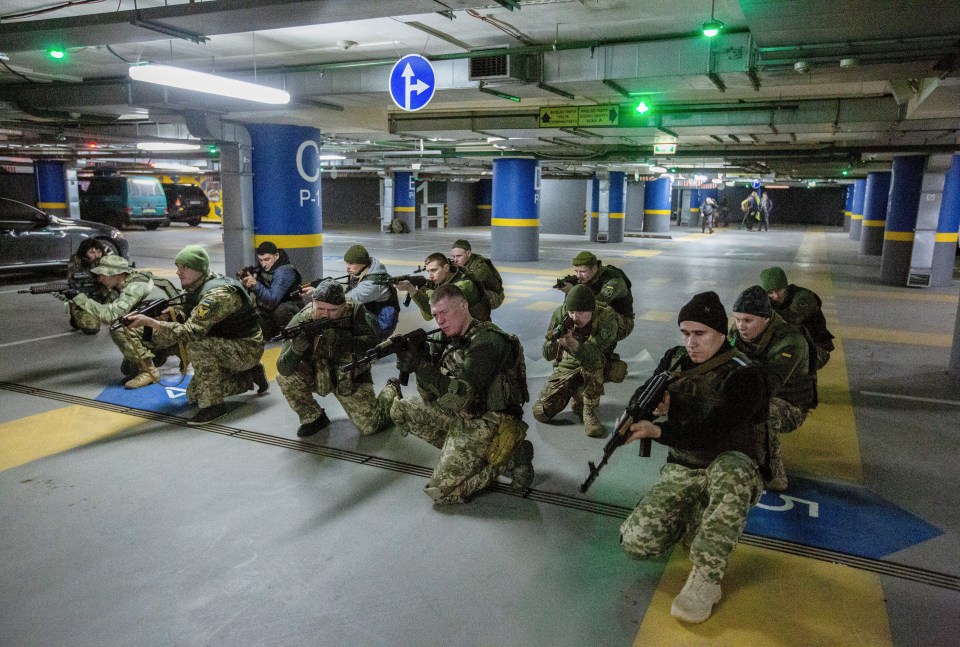
M 333 393 L 362 435 L 382 431 L 390 422 L 390 401 L 386 396 L 378 401 L 374 395 L 370 367 L 353 375 L 338 371 L 340 365 L 351 360 L 351 353 L 363 353 L 377 343 L 363 305 L 347 301 L 342 285 L 324 279 L 313 291 L 313 303 L 297 313 L 287 327 L 314 320 L 334 323 L 316 335 L 304 332 L 284 341 L 277 359 L 277 384 L 300 418 L 297 436 L 312 436 L 330 426 L 314 393 Z

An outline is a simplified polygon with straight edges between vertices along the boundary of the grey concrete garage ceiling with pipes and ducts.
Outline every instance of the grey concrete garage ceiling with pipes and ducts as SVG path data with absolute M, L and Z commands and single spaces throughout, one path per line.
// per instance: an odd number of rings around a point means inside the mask
M 956 0 L 716 0 L 713 14 L 725 27 L 711 40 L 709 0 L 5 0 L 0 156 L 131 158 L 145 138 L 216 138 L 197 126 L 211 120 L 314 126 L 347 157 L 343 172 L 422 163 L 421 174 L 475 175 L 520 154 L 548 175 L 660 164 L 842 178 L 960 148 Z M 51 60 L 53 46 L 67 58 Z M 387 79 L 411 53 L 431 59 L 437 92 L 404 112 Z M 508 57 L 513 78 L 471 75 L 481 56 Z M 293 101 L 130 81 L 142 61 Z M 634 112 L 640 98 L 654 110 Z M 614 125 L 541 119 L 597 105 L 614 108 Z M 675 155 L 654 155 L 664 141 Z

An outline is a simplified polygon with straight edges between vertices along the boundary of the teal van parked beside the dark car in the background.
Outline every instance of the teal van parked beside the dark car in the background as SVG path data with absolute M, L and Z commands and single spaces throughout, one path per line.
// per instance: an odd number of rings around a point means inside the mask
M 80 215 L 117 228 L 142 225 L 156 229 L 170 224 L 167 198 L 155 177 L 91 178 L 87 190 L 80 194 Z

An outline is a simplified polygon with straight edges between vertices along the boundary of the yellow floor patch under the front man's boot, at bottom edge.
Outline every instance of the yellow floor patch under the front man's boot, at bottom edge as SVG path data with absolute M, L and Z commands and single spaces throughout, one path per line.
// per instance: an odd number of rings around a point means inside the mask
M 689 572 L 686 551 L 675 550 L 634 647 L 893 644 L 880 579 L 872 573 L 740 545 L 713 615 L 688 625 L 670 615 L 670 604 Z

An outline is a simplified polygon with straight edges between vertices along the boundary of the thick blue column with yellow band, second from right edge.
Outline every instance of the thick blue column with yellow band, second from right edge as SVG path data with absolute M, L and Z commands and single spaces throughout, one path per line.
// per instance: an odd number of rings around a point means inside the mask
M 889 285 L 907 284 L 926 163 L 925 155 L 898 155 L 893 158 L 887 226 L 883 233 L 883 253 L 880 257 L 880 280 Z

